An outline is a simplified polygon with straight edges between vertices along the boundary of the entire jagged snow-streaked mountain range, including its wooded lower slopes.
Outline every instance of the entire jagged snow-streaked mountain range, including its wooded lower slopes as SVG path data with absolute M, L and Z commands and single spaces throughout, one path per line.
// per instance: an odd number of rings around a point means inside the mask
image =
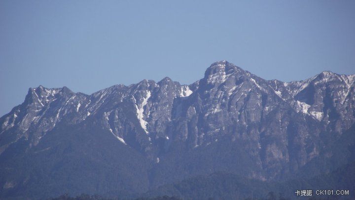
M 227 62 L 203 79 L 91 95 L 30 88 L 0 118 L 0 198 L 131 197 L 227 173 L 288 181 L 355 160 L 355 75 L 264 80 Z

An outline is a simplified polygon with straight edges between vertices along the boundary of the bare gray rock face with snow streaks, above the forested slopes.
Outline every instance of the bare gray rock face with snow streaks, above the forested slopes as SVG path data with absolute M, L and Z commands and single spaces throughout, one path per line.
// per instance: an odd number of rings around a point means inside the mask
M 146 170 L 153 185 L 221 170 L 277 179 L 331 157 L 322 134 L 336 139 L 354 125 L 354 82 L 355 75 L 332 72 L 264 80 L 220 61 L 190 85 L 142 80 L 91 95 L 39 86 L 0 118 L 0 154 L 21 141 L 25 155 L 57 126 L 91 124 L 151 160 Z M 211 160 L 195 163 L 195 157 Z

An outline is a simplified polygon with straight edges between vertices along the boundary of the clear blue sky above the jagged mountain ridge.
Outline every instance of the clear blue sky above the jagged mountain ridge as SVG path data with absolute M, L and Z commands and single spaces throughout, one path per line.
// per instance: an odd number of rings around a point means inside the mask
M 218 60 L 267 80 L 355 74 L 355 1 L 0 1 L 0 116 L 40 84 L 192 83 Z

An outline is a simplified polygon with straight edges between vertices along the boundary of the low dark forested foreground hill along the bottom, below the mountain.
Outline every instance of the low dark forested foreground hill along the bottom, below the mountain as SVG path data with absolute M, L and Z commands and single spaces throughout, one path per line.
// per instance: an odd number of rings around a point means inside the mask
M 349 188 L 349 186 L 352 186 Z M 346 189 L 349 196 L 321 197 L 313 193 L 312 197 L 297 197 L 298 190 Z M 355 194 L 355 162 L 346 164 L 330 173 L 321 174 L 310 179 L 295 179 L 286 182 L 266 183 L 247 179 L 234 174 L 214 173 L 197 176 L 175 184 L 167 184 L 139 194 L 136 198 L 101 197 L 80 195 L 70 197 L 63 195 L 51 200 L 351 200 Z

